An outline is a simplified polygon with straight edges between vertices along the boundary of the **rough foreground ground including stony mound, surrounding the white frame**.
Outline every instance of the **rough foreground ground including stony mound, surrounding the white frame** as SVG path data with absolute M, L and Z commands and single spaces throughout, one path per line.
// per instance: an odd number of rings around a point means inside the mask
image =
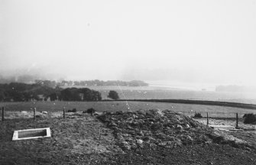
M 52 137 L 11 141 L 15 130 L 48 127 Z M 255 164 L 254 132 L 214 130 L 172 110 L 56 111 L 1 122 L 0 164 Z

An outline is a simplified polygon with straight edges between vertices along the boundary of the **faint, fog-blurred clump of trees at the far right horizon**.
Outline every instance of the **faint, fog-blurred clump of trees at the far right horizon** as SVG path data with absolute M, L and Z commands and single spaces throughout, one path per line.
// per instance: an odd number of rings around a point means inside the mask
M 256 92 L 254 86 L 216 86 L 216 92 Z

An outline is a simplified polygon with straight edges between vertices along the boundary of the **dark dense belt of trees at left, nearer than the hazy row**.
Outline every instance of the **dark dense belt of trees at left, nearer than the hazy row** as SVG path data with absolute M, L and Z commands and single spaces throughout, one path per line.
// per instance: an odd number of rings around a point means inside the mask
M 0 101 L 3 102 L 28 102 L 31 100 L 97 101 L 101 99 L 100 92 L 87 88 L 61 89 L 59 86 L 52 88 L 38 83 L 18 82 L 0 84 Z

